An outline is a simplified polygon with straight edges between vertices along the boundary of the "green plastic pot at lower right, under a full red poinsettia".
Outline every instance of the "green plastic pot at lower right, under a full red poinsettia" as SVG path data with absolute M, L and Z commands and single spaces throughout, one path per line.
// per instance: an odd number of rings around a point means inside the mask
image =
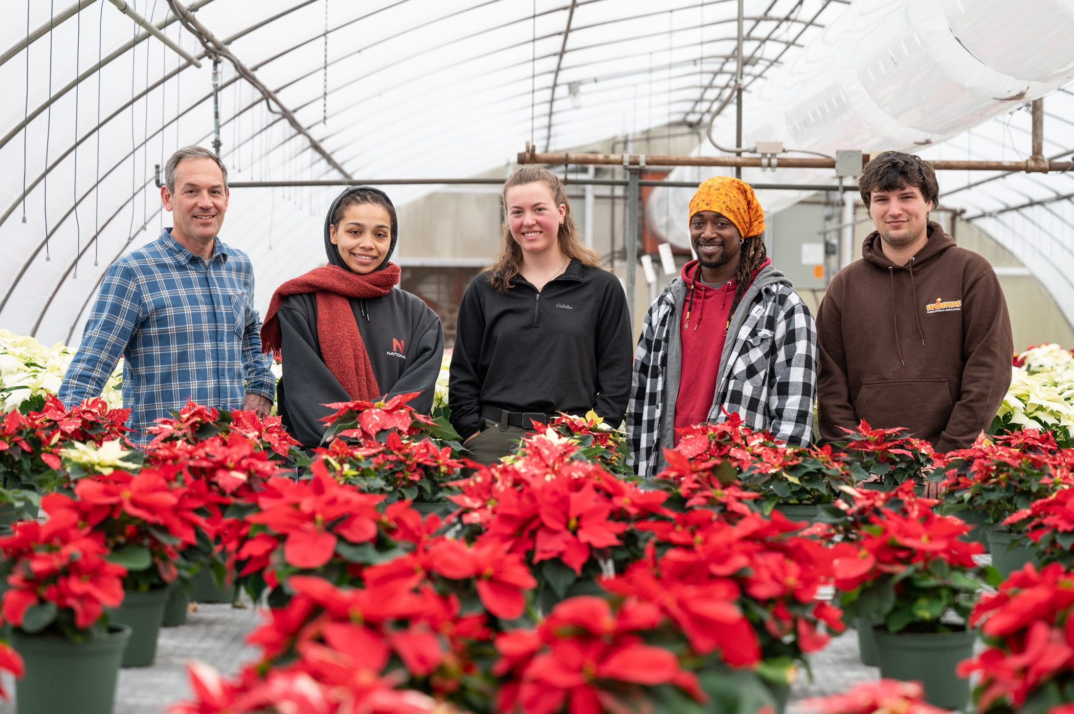
M 958 632 L 899 632 L 873 628 L 880 675 L 910 682 L 919 680 L 925 699 L 943 709 L 964 710 L 970 701 L 970 681 L 955 673 L 963 659 L 973 656 L 976 630 Z

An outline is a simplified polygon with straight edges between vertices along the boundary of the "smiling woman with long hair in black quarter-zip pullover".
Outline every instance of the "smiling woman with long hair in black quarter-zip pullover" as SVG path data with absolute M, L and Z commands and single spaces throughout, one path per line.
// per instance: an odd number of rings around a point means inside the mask
M 560 178 L 526 166 L 502 198 L 503 249 L 459 307 L 448 397 L 452 425 L 485 464 L 556 412 L 593 409 L 618 427 L 633 358 L 623 287 L 578 239 Z

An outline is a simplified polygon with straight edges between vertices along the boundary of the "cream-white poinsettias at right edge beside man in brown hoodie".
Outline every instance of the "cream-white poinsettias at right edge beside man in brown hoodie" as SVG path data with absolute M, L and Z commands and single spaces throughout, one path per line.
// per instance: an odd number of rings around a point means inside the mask
M 992 433 L 1040 428 L 1069 441 L 1074 433 L 1074 354 L 1058 345 L 1032 347 L 1012 367 L 1011 387 L 1000 405 Z

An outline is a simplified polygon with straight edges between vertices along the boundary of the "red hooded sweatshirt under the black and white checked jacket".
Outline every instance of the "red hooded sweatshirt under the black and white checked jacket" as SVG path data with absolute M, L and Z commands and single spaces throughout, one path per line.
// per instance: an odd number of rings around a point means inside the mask
M 770 262 L 766 259 L 752 277 L 756 278 L 757 273 Z M 701 282 L 696 260 L 682 266 L 680 277 L 686 283 L 686 301 L 679 320 L 682 366 L 679 396 L 674 406 L 676 443 L 679 443 L 680 428 L 700 424 L 709 419 L 716 395 L 716 380 L 720 378 L 720 359 L 724 353 L 727 321 L 730 318 L 731 303 L 735 302 L 735 289 L 738 287 L 735 280 L 728 280 L 720 288 L 708 287 Z M 693 303 L 691 286 L 695 286 Z

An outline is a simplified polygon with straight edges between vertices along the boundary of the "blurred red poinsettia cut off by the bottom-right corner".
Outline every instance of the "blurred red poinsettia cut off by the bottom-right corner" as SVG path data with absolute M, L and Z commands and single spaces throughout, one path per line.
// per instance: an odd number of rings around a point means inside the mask
M 986 595 L 970 623 L 987 649 L 959 666 L 977 674 L 978 712 L 1046 714 L 1074 704 L 1074 573 L 1032 564 Z

